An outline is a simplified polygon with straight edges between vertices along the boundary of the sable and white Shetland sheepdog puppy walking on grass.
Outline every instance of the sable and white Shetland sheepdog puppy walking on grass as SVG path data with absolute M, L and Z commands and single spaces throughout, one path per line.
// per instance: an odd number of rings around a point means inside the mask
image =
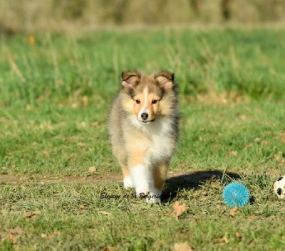
M 143 75 L 122 73 L 121 90 L 109 116 L 113 154 L 125 188 L 139 198 L 160 202 L 178 136 L 178 98 L 174 74 L 161 70 Z

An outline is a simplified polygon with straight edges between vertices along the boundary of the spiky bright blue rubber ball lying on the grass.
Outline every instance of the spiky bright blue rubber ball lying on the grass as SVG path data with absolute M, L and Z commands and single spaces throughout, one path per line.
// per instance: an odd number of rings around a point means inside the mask
M 249 203 L 249 190 L 242 183 L 229 183 L 225 186 L 222 197 L 231 208 Z

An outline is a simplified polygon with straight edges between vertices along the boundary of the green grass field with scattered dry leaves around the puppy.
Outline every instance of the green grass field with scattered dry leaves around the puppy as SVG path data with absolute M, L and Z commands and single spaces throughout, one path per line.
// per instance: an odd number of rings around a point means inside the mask
M 1 36 L 0 250 L 284 250 L 272 193 L 285 167 L 284 41 L 265 29 Z M 108 141 L 120 72 L 133 68 L 180 84 L 160 205 L 123 189 Z M 234 179 L 251 193 L 239 210 L 221 196 Z

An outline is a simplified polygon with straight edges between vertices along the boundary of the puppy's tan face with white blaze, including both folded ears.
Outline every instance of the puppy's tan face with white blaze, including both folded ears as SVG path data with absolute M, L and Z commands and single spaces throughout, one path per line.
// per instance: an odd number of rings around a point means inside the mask
M 166 97 L 170 92 L 174 93 L 174 74 L 160 71 L 145 76 L 135 70 L 122 73 L 122 80 L 123 106 L 127 112 L 135 114 L 140 123 L 154 122 L 170 106 Z

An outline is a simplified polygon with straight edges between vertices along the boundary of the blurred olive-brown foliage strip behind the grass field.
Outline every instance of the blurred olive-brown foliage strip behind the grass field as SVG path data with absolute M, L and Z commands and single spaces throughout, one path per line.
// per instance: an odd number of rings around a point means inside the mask
M 0 32 L 76 26 L 285 23 L 284 0 L 0 0 Z

